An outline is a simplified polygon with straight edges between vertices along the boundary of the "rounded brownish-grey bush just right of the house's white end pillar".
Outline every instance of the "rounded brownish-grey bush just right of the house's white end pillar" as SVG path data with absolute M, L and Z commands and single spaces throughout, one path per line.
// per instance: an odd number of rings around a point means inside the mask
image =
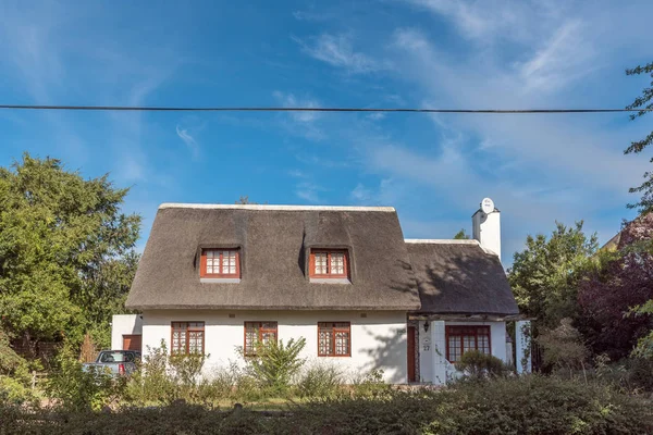
M 557 327 L 542 331 L 538 344 L 544 353 L 544 364 L 570 371 L 584 370 L 590 352 L 578 330 L 571 325 L 571 319 L 563 319 Z

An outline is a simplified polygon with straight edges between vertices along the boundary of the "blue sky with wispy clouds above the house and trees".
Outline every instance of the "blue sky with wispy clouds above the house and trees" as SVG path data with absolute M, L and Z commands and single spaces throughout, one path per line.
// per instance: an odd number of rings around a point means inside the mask
M 652 60 L 650 1 L 35 3 L 0 0 L 3 103 L 620 108 Z M 491 197 L 509 264 L 555 220 L 605 241 L 633 216 L 650 163 L 623 149 L 651 120 L 5 111 L 0 164 L 109 172 L 139 249 L 161 202 L 387 204 L 406 237 L 449 238 Z

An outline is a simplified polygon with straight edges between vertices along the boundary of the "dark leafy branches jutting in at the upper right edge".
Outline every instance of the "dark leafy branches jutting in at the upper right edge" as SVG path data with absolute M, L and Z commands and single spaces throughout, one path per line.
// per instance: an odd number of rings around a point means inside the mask
M 653 77 L 653 62 L 643 66 L 640 65 L 631 70 L 626 70 L 626 75 L 640 74 L 649 74 Z M 630 120 L 636 120 L 637 117 L 646 114 L 648 112 L 643 109 L 653 109 L 653 82 L 651 83 L 651 86 L 644 88 L 642 95 L 636 98 L 632 103 L 626 107 L 626 109 L 639 109 L 637 113 L 630 115 Z M 640 153 L 651 144 L 653 144 L 653 132 L 643 139 L 631 142 L 630 146 L 624 150 L 624 153 Z M 639 202 L 628 204 L 628 208 L 638 209 L 640 212 L 653 210 L 653 172 L 646 171 L 643 177 L 645 181 L 639 187 L 630 188 L 631 194 L 638 192 L 641 194 L 642 197 Z

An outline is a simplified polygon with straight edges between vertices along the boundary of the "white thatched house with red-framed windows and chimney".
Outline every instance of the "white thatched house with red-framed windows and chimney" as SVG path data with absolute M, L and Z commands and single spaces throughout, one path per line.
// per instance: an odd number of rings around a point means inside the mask
M 519 318 L 498 211 L 473 225 L 476 240 L 405 240 L 386 207 L 164 203 L 126 302 L 141 314 L 114 316 L 112 346 L 164 340 L 210 355 L 210 371 L 237 348 L 304 337 L 304 357 L 352 374 L 443 383 L 469 349 L 510 359 L 505 325 Z

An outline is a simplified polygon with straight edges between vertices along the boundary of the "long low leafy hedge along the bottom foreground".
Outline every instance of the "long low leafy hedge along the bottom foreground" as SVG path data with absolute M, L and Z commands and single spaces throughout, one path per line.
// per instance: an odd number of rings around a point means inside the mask
M 4 407 L 0 433 L 644 434 L 653 433 L 653 406 L 607 386 L 533 375 L 464 382 L 435 391 L 341 396 L 280 413 L 183 403 L 114 413 Z

